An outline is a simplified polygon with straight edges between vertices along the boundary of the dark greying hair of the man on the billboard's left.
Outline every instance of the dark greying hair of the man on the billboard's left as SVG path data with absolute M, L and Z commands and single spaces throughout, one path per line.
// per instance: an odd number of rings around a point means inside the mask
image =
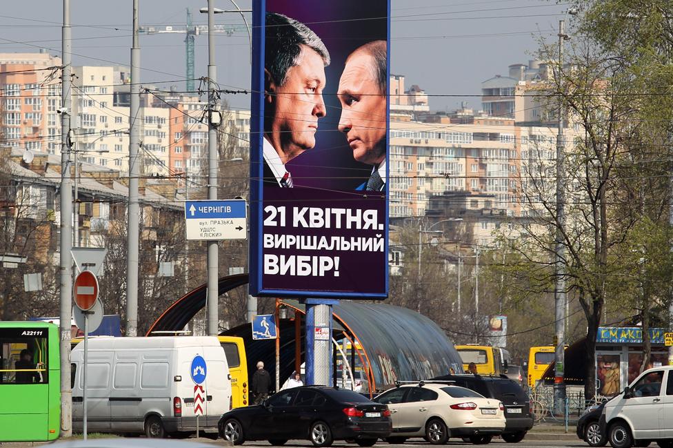
M 265 32 L 264 68 L 279 86 L 285 84 L 288 70 L 299 64 L 302 45 L 315 50 L 323 58 L 325 67 L 330 65 L 327 47 L 303 23 L 277 12 L 267 12 Z

